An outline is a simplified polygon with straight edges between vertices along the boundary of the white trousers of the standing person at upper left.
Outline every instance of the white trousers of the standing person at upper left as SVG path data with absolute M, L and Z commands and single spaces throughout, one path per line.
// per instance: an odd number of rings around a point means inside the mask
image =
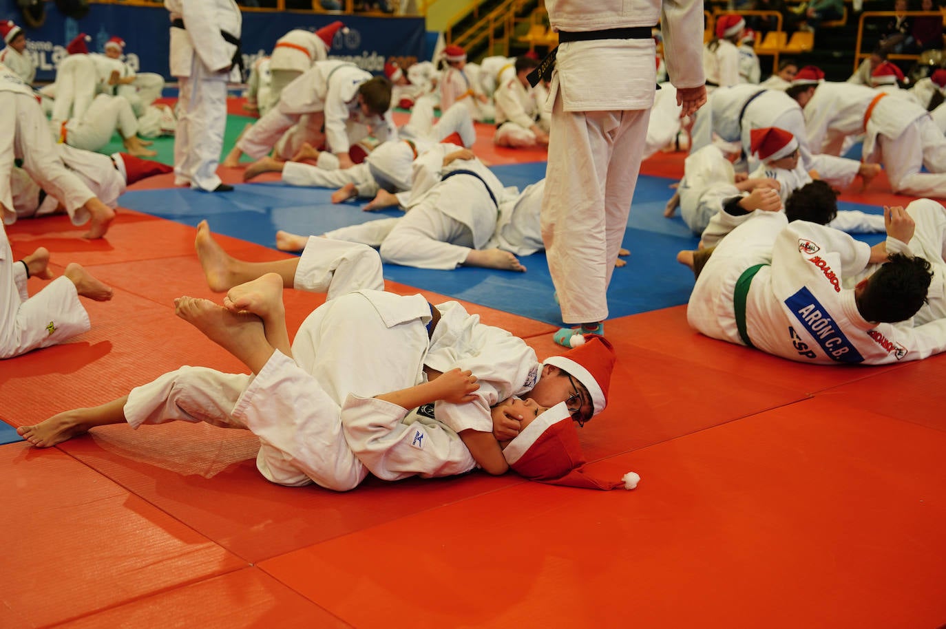
M 178 126 L 174 134 L 174 183 L 214 190 L 223 131 L 227 124 L 229 72 L 213 72 L 199 55 L 191 61 L 189 77 L 178 77 Z

